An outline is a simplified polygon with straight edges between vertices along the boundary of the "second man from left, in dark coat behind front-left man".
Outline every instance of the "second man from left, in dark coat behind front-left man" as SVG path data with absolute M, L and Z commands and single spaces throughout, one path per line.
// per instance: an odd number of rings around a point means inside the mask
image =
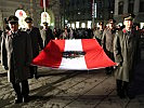
M 25 31 L 30 36 L 31 38 L 31 46 L 32 46 L 32 58 L 35 58 L 39 54 L 39 48 L 43 49 L 42 38 L 40 36 L 39 28 L 32 26 L 32 18 L 26 17 L 25 22 L 27 24 L 27 27 Z M 30 78 L 38 79 L 37 73 L 37 66 L 30 66 Z

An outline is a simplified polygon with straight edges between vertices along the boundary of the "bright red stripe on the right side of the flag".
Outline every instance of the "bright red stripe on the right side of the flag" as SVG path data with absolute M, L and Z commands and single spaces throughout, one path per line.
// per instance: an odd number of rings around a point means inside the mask
M 88 69 L 109 67 L 116 65 L 107 57 L 104 50 L 95 39 L 83 39 L 82 49 L 86 52 L 86 64 Z

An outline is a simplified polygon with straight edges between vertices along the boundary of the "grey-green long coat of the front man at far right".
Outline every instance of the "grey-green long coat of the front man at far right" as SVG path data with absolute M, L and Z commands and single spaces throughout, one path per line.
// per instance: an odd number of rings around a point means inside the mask
M 126 29 L 116 33 L 114 39 L 115 62 L 121 63 L 115 72 L 118 80 L 126 82 L 133 78 L 133 70 L 136 63 L 138 36 L 134 30 L 128 32 Z

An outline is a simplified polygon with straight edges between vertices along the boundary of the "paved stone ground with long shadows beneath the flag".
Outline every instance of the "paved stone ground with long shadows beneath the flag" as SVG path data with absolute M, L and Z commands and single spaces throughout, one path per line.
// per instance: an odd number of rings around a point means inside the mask
M 143 64 L 142 64 L 143 63 Z M 136 97 L 120 99 L 115 78 L 104 69 L 66 71 L 39 67 L 38 80 L 29 79 L 30 102 L 14 105 L 14 91 L 0 66 L 0 108 L 144 108 L 144 62 L 134 82 Z

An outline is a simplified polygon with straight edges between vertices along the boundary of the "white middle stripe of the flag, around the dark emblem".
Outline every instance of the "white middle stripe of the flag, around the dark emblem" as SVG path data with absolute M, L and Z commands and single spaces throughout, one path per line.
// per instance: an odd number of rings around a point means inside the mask
M 65 40 L 65 51 L 82 51 L 81 40 Z M 87 69 L 84 56 L 62 58 L 60 69 Z

